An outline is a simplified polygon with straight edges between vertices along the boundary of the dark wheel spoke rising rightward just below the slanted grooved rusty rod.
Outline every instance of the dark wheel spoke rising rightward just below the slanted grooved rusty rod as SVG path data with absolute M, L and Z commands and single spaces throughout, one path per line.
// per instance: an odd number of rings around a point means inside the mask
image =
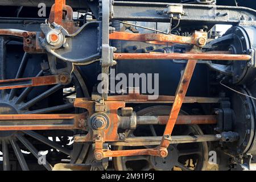
M 19 109 L 20 110 L 28 109 L 29 107 L 35 105 L 36 102 L 39 102 L 39 101 L 43 100 L 44 98 L 48 97 L 52 93 L 55 93 L 57 90 L 59 90 L 62 87 L 63 87 L 63 85 L 61 85 L 61 84 L 57 84 L 57 85 L 53 86 L 51 89 L 47 90 L 46 92 L 44 92 L 44 93 L 40 94 L 39 96 L 33 98 L 31 101 L 28 101 L 24 105 L 20 106 Z

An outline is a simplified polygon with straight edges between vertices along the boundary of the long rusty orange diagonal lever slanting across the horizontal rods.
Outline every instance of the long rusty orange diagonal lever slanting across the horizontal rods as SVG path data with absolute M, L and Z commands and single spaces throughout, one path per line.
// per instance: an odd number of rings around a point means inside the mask
M 187 93 L 189 83 L 196 67 L 196 62 L 196 60 L 188 60 L 184 73 L 180 78 L 180 82 L 175 94 L 174 104 L 172 105 L 168 122 L 166 124 L 166 129 L 164 130 L 163 138 L 160 144 L 161 147 L 167 148 L 169 146 L 169 142 L 167 139 L 164 138 L 164 136 L 171 135 L 172 130 L 174 129 L 176 119 L 179 115 L 181 105 L 183 104 L 185 94 Z

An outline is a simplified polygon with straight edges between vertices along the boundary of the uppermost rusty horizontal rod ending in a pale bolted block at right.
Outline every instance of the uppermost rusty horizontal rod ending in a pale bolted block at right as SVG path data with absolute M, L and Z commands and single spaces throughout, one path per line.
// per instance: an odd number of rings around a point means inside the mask
M 207 33 L 196 31 L 191 37 L 166 34 L 134 34 L 129 32 L 113 32 L 109 39 L 147 42 L 153 44 L 180 43 L 204 46 L 207 43 Z

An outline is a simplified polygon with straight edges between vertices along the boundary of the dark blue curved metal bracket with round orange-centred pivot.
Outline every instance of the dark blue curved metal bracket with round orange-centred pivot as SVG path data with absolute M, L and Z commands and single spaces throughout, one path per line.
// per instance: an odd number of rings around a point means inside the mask
M 63 61 L 84 65 L 90 64 L 97 61 L 101 56 L 98 34 L 99 24 L 100 22 L 98 21 L 86 23 L 74 34 L 69 34 L 63 26 L 54 22 L 52 24 L 41 24 L 42 32 L 46 37 L 39 37 L 39 40 L 49 53 Z M 52 44 L 49 37 L 56 34 L 61 41 L 57 44 Z M 85 36 L 88 34 L 90 36 Z

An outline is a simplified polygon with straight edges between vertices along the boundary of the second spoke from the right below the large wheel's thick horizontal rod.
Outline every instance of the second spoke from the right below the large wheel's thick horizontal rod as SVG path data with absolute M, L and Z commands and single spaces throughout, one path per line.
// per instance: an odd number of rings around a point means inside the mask
M 27 149 L 35 156 L 36 159 L 39 159 L 40 156 L 38 155 L 38 150 L 36 150 L 36 148 L 26 139 L 24 138 L 22 135 L 20 134 L 16 134 L 16 137 L 20 140 L 20 142 L 22 142 L 22 144 L 27 147 Z M 51 171 L 52 170 L 52 166 L 51 164 L 49 164 L 46 161 L 46 164 L 43 164 L 43 166 L 48 170 Z

